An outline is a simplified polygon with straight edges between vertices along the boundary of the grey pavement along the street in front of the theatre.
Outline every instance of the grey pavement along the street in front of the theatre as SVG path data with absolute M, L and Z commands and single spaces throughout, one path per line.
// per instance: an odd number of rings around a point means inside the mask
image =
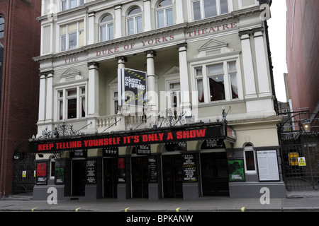
M 119 201 L 102 198 L 88 201 L 63 200 L 49 204 L 34 201 L 32 196 L 9 196 L 0 199 L 0 212 L 319 212 L 319 191 L 288 192 L 286 198 L 270 198 L 262 204 L 259 198 L 203 197 L 196 200 L 163 198 L 150 201 L 132 198 Z

